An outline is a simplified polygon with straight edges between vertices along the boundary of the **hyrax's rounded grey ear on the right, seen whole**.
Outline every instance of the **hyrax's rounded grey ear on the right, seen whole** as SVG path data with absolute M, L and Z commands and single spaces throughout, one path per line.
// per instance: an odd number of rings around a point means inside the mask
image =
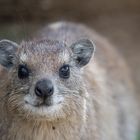
M 71 49 L 74 53 L 74 59 L 76 60 L 77 65 L 82 67 L 90 61 L 95 50 L 95 46 L 90 40 L 82 39 L 73 43 L 71 45 Z

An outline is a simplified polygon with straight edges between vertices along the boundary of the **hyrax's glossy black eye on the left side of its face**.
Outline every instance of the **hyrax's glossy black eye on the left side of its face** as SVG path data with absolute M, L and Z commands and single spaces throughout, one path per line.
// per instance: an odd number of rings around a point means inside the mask
M 25 79 L 29 77 L 29 69 L 25 65 L 19 65 L 18 67 L 18 77 L 20 79 Z

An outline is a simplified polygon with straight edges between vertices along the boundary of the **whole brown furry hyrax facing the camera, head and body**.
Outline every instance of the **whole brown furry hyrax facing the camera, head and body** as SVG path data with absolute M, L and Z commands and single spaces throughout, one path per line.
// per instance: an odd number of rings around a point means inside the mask
M 0 64 L 2 140 L 135 139 L 128 68 L 91 29 L 58 22 L 30 42 L 1 40 Z

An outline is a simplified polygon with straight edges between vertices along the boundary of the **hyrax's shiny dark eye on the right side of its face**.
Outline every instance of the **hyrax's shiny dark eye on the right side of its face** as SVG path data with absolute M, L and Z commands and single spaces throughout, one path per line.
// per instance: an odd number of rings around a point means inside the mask
M 68 79 L 70 77 L 70 67 L 69 65 L 63 65 L 59 69 L 59 76 L 64 79 Z

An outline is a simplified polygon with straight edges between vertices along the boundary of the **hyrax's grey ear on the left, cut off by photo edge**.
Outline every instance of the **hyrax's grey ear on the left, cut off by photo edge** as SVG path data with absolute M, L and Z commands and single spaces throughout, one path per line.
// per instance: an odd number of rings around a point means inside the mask
M 12 67 L 17 48 L 18 45 L 15 42 L 6 39 L 0 41 L 0 64 L 2 66 Z

